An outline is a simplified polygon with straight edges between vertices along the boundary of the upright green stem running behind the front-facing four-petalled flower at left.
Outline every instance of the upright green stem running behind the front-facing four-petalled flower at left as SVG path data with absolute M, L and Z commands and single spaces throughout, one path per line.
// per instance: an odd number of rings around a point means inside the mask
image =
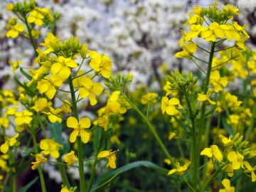
M 77 102 L 75 100 L 75 91 L 73 87 L 73 82 L 71 76 L 68 78 L 68 83 L 70 86 L 70 93 L 72 98 L 72 106 L 73 106 L 73 112 L 74 117 L 78 119 L 78 106 Z M 83 153 L 82 153 L 82 140 L 81 137 L 77 137 L 77 144 L 78 144 L 78 170 L 79 170 L 79 178 L 80 178 L 80 192 L 85 192 L 85 171 L 83 169 Z

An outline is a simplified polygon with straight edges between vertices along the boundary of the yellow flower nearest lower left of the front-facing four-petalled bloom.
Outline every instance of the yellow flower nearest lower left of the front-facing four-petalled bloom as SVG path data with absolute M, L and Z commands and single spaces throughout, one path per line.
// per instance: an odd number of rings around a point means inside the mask
M 45 155 L 50 154 L 53 158 L 57 159 L 60 156 L 59 148 L 61 144 L 55 142 L 55 139 L 42 139 L 40 142 L 40 149 L 42 149 L 42 153 Z

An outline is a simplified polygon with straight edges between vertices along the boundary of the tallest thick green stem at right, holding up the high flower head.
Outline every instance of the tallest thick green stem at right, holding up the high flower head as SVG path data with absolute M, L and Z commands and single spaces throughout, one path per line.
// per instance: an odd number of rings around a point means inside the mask
M 215 49 L 215 42 L 213 42 L 210 46 L 208 69 L 206 73 L 206 80 L 205 80 L 204 91 L 203 91 L 204 95 L 206 95 L 208 92 L 208 86 L 210 82 L 210 73 L 211 73 L 212 63 L 213 63 L 214 49 Z M 193 162 L 194 167 L 193 167 L 193 176 L 192 176 L 192 186 L 195 189 L 197 189 L 197 181 L 199 181 L 198 178 L 200 176 L 200 174 L 198 173 L 198 167 L 199 167 L 200 146 L 201 146 L 201 140 L 203 136 L 203 130 L 204 130 L 205 119 L 206 119 L 205 115 L 206 115 L 206 101 L 203 102 L 201 107 L 201 116 L 199 121 L 197 143 L 196 143 L 196 154 L 194 154 L 195 157 L 193 159 L 195 162 Z

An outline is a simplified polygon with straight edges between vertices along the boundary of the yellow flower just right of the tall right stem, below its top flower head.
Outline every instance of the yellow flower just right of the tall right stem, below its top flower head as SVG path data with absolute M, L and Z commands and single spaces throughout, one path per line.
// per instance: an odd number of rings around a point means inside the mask
M 213 73 L 210 73 L 210 84 L 213 85 L 215 92 L 219 92 L 223 90 L 221 86 L 226 87 L 228 85 L 228 78 L 220 78 L 220 73 L 218 70 L 215 70 Z

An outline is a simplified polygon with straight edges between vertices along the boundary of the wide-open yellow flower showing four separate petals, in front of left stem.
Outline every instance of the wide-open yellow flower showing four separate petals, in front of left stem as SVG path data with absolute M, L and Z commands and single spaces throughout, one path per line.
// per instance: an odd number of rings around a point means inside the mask
M 83 117 L 79 120 L 79 122 L 75 117 L 68 117 L 67 126 L 74 129 L 74 131 L 70 134 L 70 142 L 75 142 L 78 136 L 81 137 L 84 144 L 89 142 L 90 134 L 87 133 L 84 129 L 90 128 L 90 125 L 90 119 L 87 117 Z

